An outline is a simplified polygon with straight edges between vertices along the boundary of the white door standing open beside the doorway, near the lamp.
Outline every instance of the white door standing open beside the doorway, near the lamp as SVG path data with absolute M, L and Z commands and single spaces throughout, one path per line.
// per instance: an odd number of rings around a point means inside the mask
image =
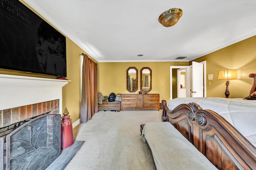
M 192 61 L 192 88 L 191 96 L 204 97 L 204 64 Z

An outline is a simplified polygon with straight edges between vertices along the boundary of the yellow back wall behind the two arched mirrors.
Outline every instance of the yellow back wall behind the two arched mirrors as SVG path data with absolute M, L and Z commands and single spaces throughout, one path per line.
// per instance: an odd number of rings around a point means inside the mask
M 188 62 L 134 62 L 134 63 L 98 63 L 98 91 L 104 96 L 110 93 L 129 93 L 126 90 L 126 70 L 138 69 L 138 90 L 140 91 L 140 69 L 150 67 L 152 70 L 152 90 L 160 94 L 161 100 L 170 100 L 170 66 L 188 65 Z

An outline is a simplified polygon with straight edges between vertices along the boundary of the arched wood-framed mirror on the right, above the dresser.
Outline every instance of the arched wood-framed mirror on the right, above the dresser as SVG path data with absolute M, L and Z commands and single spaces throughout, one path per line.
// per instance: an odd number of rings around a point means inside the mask
M 143 67 L 140 70 L 140 90 L 142 92 L 152 90 L 152 70 L 149 67 Z

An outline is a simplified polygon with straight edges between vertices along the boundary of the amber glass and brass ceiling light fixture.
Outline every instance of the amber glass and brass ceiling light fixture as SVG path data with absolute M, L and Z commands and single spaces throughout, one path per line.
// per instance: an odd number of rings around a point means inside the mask
M 178 22 L 181 16 L 182 16 L 182 10 L 180 8 L 171 8 L 170 10 L 163 12 L 159 16 L 158 21 L 164 27 L 171 27 Z

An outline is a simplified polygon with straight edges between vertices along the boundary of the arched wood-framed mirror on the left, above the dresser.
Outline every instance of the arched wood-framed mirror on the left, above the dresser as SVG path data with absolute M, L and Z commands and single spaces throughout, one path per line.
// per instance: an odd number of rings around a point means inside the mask
M 138 90 L 138 69 L 136 67 L 129 67 L 126 70 L 126 89 L 128 92 Z

